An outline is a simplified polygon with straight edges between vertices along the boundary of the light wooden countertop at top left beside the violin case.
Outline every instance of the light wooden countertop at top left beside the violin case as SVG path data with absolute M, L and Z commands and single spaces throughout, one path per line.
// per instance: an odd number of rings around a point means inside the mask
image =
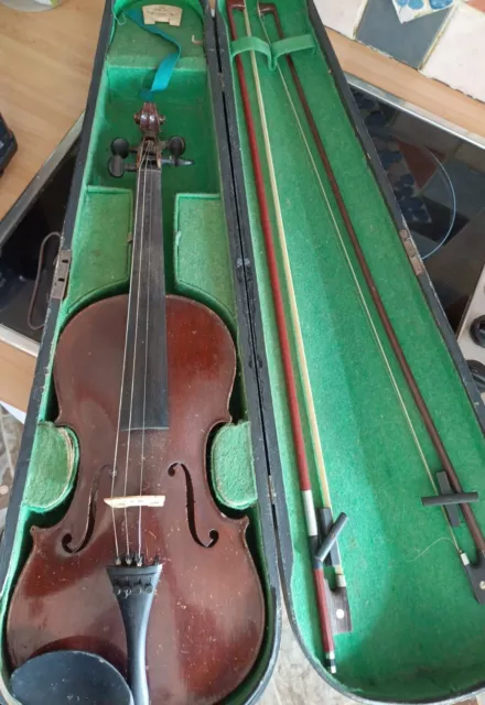
M 48 12 L 18 12 L 0 4 L 0 110 L 19 142 L 1 177 L 0 220 L 84 110 L 103 7 L 66 0 Z

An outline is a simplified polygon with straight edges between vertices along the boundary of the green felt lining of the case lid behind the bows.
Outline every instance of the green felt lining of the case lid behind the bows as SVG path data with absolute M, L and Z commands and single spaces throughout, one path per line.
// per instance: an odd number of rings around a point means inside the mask
M 247 0 L 246 6 L 251 34 L 267 41 L 255 0 Z M 280 0 L 277 7 L 287 36 L 312 32 L 302 0 Z M 220 10 L 228 31 L 224 2 Z M 246 36 L 242 13 L 236 11 L 235 20 L 238 36 Z M 278 35 L 273 20 L 266 18 L 265 26 L 270 44 L 274 43 Z M 465 490 L 477 490 L 484 498 L 485 443 L 474 409 L 409 264 L 316 36 L 314 44 L 316 51 L 298 51 L 292 58 L 346 207 L 462 484 Z M 256 116 L 282 276 L 282 250 L 251 56 L 240 56 Z M 349 517 L 340 547 L 353 631 L 335 637 L 337 674 L 334 680 L 328 677 L 364 698 L 453 698 L 484 681 L 485 608 L 472 594 L 443 512 L 421 505 L 421 497 L 434 494 L 430 475 L 441 469 L 440 464 L 366 289 L 287 61 L 278 61 L 281 73 L 270 69 L 266 53 L 258 51 L 256 62 L 333 511 L 335 517 L 341 511 Z M 234 59 L 231 65 L 284 500 L 294 547 L 288 589 L 303 643 L 312 658 L 322 662 L 265 243 Z M 288 286 L 284 294 L 291 327 Z M 298 367 L 295 349 L 293 362 Z M 305 414 L 302 388 L 300 400 Z M 308 416 L 304 421 L 308 427 Z M 313 462 L 310 434 L 306 441 Z M 319 495 L 314 462 L 311 470 Z M 322 506 L 321 498 L 316 497 L 316 503 Z M 483 499 L 474 510 L 485 528 Z M 463 521 L 454 536 L 473 562 L 475 553 Z

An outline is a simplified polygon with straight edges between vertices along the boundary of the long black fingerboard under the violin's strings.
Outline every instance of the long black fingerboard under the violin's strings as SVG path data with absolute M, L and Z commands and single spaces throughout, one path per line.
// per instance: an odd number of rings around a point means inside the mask
M 162 172 L 140 167 L 133 228 L 121 430 L 168 429 Z

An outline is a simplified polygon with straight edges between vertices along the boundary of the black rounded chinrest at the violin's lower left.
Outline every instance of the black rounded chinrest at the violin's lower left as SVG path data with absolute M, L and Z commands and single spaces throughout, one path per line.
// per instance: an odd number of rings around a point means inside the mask
M 133 705 L 128 683 L 108 661 L 86 651 L 51 651 L 12 673 L 22 705 Z

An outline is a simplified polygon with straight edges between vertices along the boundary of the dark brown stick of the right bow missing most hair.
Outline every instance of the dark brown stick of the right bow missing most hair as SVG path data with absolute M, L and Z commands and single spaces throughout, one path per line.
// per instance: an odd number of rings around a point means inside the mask
M 278 10 L 277 10 L 274 3 L 272 3 L 272 2 L 262 2 L 261 3 L 260 2 L 260 3 L 258 3 L 258 11 L 259 11 L 259 15 L 260 15 L 260 19 L 261 19 L 261 24 L 262 24 L 262 28 L 263 28 L 263 31 L 266 33 L 266 36 L 267 36 L 268 41 L 269 41 L 268 32 L 267 32 L 267 30 L 265 28 L 265 23 L 262 21 L 262 18 L 265 15 L 267 15 L 267 14 L 271 14 L 272 15 L 272 18 L 274 20 L 274 24 L 276 24 L 276 28 L 277 28 L 277 32 L 278 32 L 279 39 L 284 39 L 284 32 L 283 32 L 282 25 L 281 25 L 281 21 L 280 21 L 280 18 L 278 15 Z M 306 96 L 304 94 L 303 86 L 302 86 L 301 80 L 300 80 L 300 78 L 298 76 L 297 68 L 294 66 L 294 62 L 291 58 L 291 56 L 289 56 L 289 55 L 287 55 L 287 63 L 288 63 L 288 66 L 289 66 L 290 73 L 291 73 L 291 77 L 292 77 L 294 87 L 297 89 L 299 99 L 301 101 L 303 111 L 305 113 L 306 121 L 308 121 L 308 124 L 310 127 L 310 131 L 312 133 L 316 150 L 319 152 L 319 155 L 320 155 L 321 162 L 323 164 L 325 174 L 326 174 L 326 176 L 328 178 L 328 182 L 331 184 L 332 193 L 333 193 L 333 195 L 335 197 L 335 200 L 337 203 L 337 207 L 338 207 L 340 214 L 341 214 L 341 216 L 342 216 L 342 218 L 344 220 L 345 228 L 347 230 L 347 234 L 348 234 L 351 243 L 353 246 L 355 256 L 357 258 L 357 261 L 358 261 L 359 267 L 362 269 L 362 272 L 364 274 L 364 279 L 365 279 L 365 282 L 367 284 L 368 291 L 369 291 L 370 296 L 371 296 L 371 299 L 374 301 L 374 304 L 376 306 L 378 316 L 379 316 L 379 318 L 380 318 L 380 321 L 382 323 L 384 329 L 385 329 L 386 335 L 387 335 L 387 337 L 389 339 L 389 343 L 391 345 L 391 348 L 394 350 L 396 359 L 397 359 L 397 361 L 399 364 L 399 367 L 400 367 L 400 369 L 402 371 L 402 375 L 403 375 L 403 377 L 406 379 L 406 382 L 407 382 L 407 384 L 409 387 L 409 390 L 411 392 L 411 395 L 413 398 L 416 406 L 417 406 L 417 409 L 418 409 L 418 411 L 419 411 L 419 413 L 421 415 L 421 419 L 422 419 L 422 421 L 424 423 L 424 426 L 425 426 L 425 429 L 428 431 L 428 434 L 429 434 L 429 436 L 430 436 L 430 438 L 431 438 L 431 441 L 433 443 L 433 446 L 434 446 L 436 455 L 438 455 L 438 457 L 440 459 L 440 463 L 441 463 L 444 471 L 446 473 L 446 476 L 449 478 L 451 488 L 452 488 L 452 490 L 454 492 L 461 495 L 461 494 L 463 494 L 462 484 L 461 484 L 460 478 L 459 478 L 459 476 L 456 474 L 456 470 L 455 470 L 455 468 L 454 468 L 454 466 L 453 466 L 453 464 L 452 464 L 452 462 L 450 459 L 450 456 L 448 455 L 446 448 L 444 447 L 444 444 L 443 444 L 443 442 L 441 440 L 441 436 L 440 436 L 440 434 L 438 432 L 438 429 L 436 429 L 436 426 L 434 424 L 434 421 L 433 421 L 433 419 L 431 416 L 429 408 L 428 408 L 428 405 L 427 405 L 427 403 L 425 403 L 425 401 L 424 401 L 424 399 L 423 399 L 423 397 L 421 394 L 421 390 L 418 387 L 418 383 L 417 383 L 417 381 L 414 379 L 414 376 L 413 376 L 413 373 L 411 371 L 409 362 L 408 362 L 408 360 L 406 358 L 406 355 L 405 355 L 405 352 L 403 352 L 403 350 L 401 348 L 401 345 L 400 345 L 400 343 L 398 340 L 398 337 L 396 335 L 394 326 L 392 326 L 392 324 L 390 322 L 388 313 L 387 313 L 387 311 L 386 311 L 386 308 L 384 306 L 382 300 L 380 297 L 380 294 L 378 292 L 378 289 L 376 286 L 375 281 L 374 281 L 374 278 L 373 278 L 370 269 L 369 269 L 369 267 L 367 264 L 367 260 L 365 258 L 364 251 L 363 251 L 363 249 L 360 247 L 360 243 L 358 241 L 358 238 L 357 238 L 357 235 L 355 232 L 354 226 L 352 224 L 351 217 L 348 215 L 347 208 L 345 206 L 345 203 L 344 203 L 342 193 L 340 191 L 340 187 L 338 187 L 334 171 L 332 169 L 331 162 L 328 160 L 326 150 L 325 150 L 325 148 L 323 145 L 323 142 L 322 142 L 322 139 L 320 137 L 320 132 L 319 132 L 319 129 L 316 127 L 315 120 L 313 118 L 313 115 L 312 115 L 311 108 L 309 106 L 309 102 L 306 100 Z M 288 97 L 290 98 L 290 101 L 291 101 L 291 96 L 289 95 L 288 86 L 287 86 L 285 79 L 284 79 L 280 68 L 279 68 L 279 73 L 280 73 L 280 76 L 281 76 L 281 78 L 283 80 L 283 85 L 284 85 L 284 87 L 287 89 L 287 95 L 288 95 Z M 293 109 L 294 109 L 294 107 L 293 107 Z M 302 127 L 301 127 L 301 123 L 300 123 L 300 121 L 298 119 L 297 113 L 295 113 L 295 117 L 297 117 L 297 120 L 299 122 L 300 130 L 302 131 Z M 303 131 L 302 131 L 302 135 L 304 137 Z M 306 143 L 306 148 L 309 149 L 309 152 L 310 152 L 310 148 L 309 148 L 309 144 L 308 144 L 306 140 L 305 140 L 305 143 Z M 310 155 L 311 155 L 311 153 L 310 153 Z M 312 158 L 312 162 L 313 162 L 313 158 Z M 313 162 L 313 164 L 314 164 L 314 162 Z M 323 186 L 322 186 L 322 188 L 323 188 Z M 345 249 L 345 246 L 343 246 L 343 247 Z M 347 261 L 348 261 L 348 257 L 347 257 Z M 351 267 L 352 267 L 352 264 L 351 264 Z M 356 284 L 358 286 L 358 282 L 357 281 L 356 281 Z M 366 308 L 366 313 L 367 313 L 368 316 L 370 316 L 370 312 L 367 308 Z M 377 335 L 376 330 L 375 330 L 375 334 Z M 397 382 L 396 382 L 396 380 L 394 378 L 394 375 L 391 372 L 391 368 L 390 368 L 390 366 L 389 366 L 389 364 L 387 361 L 386 354 L 385 354 L 384 348 L 382 348 L 382 346 L 380 344 L 380 340 L 379 340 L 379 348 L 380 348 L 382 355 L 385 356 L 389 373 L 391 375 L 392 382 L 395 384 L 396 391 L 398 392 L 398 395 L 400 398 L 401 404 L 403 404 L 402 397 L 400 395 L 399 390 L 397 388 Z M 413 433 L 414 441 L 418 443 L 418 447 L 419 447 L 421 457 L 422 457 L 422 459 L 424 462 L 424 465 L 427 466 L 428 473 L 430 475 L 430 479 L 431 479 L 431 481 L 432 481 L 432 484 L 433 484 L 433 486 L 435 488 L 435 482 L 431 477 L 431 473 L 430 473 L 430 470 L 428 468 L 428 465 L 425 463 L 425 458 L 423 456 L 422 449 L 421 449 L 421 447 L 419 445 L 419 442 L 417 440 L 416 432 L 414 432 L 414 430 L 412 427 L 412 423 L 411 423 L 411 421 L 409 419 L 409 414 L 408 414 L 406 408 L 405 408 L 405 413 L 406 413 L 406 416 L 408 419 L 408 422 L 411 425 L 411 431 Z M 468 579 L 470 579 L 470 582 L 472 584 L 472 589 L 473 589 L 473 592 L 475 594 L 476 599 L 478 600 L 478 603 L 485 604 L 485 539 L 483 536 L 483 533 L 482 533 L 479 524 L 478 524 L 478 522 L 476 520 L 476 517 L 475 517 L 475 514 L 473 512 L 473 509 L 470 507 L 470 505 L 463 503 L 463 505 L 460 505 L 460 506 L 461 506 L 461 509 L 462 509 L 463 517 L 465 519 L 466 525 L 467 525 L 467 528 L 470 530 L 470 533 L 471 533 L 472 539 L 473 539 L 474 544 L 475 544 L 475 549 L 476 549 L 476 553 L 477 553 L 477 564 L 476 565 L 471 565 L 466 553 L 459 549 L 455 540 L 454 540 L 454 544 L 455 544 L 455 546 L 456 546 L 456 549 L 457 549 L 457 551 L 460 553 L 462 563 L 464 565 L 464 568 L 466 571 Z M 452 533 L 452 535 L 453 535 L 453 533 Z M 453 539 L 454 539 L 454 535 L 453 535 Z

